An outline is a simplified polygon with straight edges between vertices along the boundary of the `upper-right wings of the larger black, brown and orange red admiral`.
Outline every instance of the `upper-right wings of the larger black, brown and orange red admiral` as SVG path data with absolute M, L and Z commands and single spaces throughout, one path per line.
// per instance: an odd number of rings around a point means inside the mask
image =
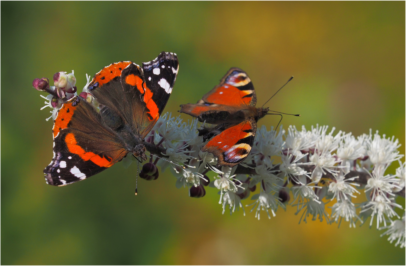
M 168 102 L 178 69 L 176 54 L 162 52 L 143 67 L 130 61 L 110 64 L 93 77 L 88 89 L 143 138 Z

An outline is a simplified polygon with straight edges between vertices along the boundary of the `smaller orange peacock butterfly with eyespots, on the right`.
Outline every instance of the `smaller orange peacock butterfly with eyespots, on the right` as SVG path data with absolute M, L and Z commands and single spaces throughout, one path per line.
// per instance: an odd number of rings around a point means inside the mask
M 254 143 L 257 121 L 269 108 L 255 107 L 257 97 L 248 75 L 239 68 L 231 68 L 196 104 L 181 105 L 181 113 L 190 114 L 216 125 L 199 130 L 203 139 L 212 138 L 202 151 L 218 157 L 217 166 L 233 167 L 244 161 Z

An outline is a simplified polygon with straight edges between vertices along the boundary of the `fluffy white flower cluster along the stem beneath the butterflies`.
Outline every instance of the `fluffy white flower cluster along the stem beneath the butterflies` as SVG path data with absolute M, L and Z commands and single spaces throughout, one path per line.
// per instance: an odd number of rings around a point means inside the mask
M 87 74 L 86 78 L 82 93 L 87 93 L 89 103 L 97 107 L 87 91 L 90 79 Z M 52 103 L 55 96 L 43 98 L 49 101 L 43 108 L 52 107 L 54 116 L 60 104 Z M 388 229 L 382 235 L 389 235 L 391 243 L 396 240 L 395 246 L 405 246 L 405 215 L 401 219 L 395 212 L 395 208 L 402 209 L 395 197 L 400 194 L 404 197 L 405 163 L 400 161 L 404 155 L 399 154 L 400 144 L 394 137 L 381 137 L 378 131 L 374 135 L 370 131 L 354 137 L 342 131 L 334 133 L 334 127 L 328 132 L 328 126 L 319 125 L 310 130 L 304 126 L 301 130 L 289 126 L 287 133 L 282 126 L 279 131 L 273 127 L 268 131 L 262 126 L 244 162 L 233 168 L 218 169 L 217 158 L 201 151 L 207 143 L 199 136 L 198 129 L 202 126 L 196 119 L 183 122 L 180 116 L 162 115 L 145 138 L 145 142 L 164 150 L 163 158 L 150 158 L 146 167 L 149 174 L 145 176 L 153 175 L 153 178 L 148 180 L 158 178 L 155 165 L 160 166 L 161 171 L 170 167 L 176 177 L 176 187 L 188 187 L 192 197 L 203 197 L 207 185 L 218 189 L 222 212 L 228 208 L 230 214 L 242 208 L 245 215 L 241 201 L 257 191 L 251 196 L 254 202 L 246 206 L 252 206 L 251 212 L 255 210 L 258 219 L 261 210 L 270 219 L 271 214 L 276 216 L 278 208 L 285 208 L 289 202 L 296 206 L 296 214 L 302 212 L 300 221 L 305 222 L 309 216 L 312 220 L 325 219 L 339 225 L 344 219 L 350 227 L 355 227 L 356 222 L 363 224 L 370 217 L 369 226 L 376 221 L 378 229 Z M 125 157 L 125 167 L 132 160 L 130 156 Z M 400 166 L 395 174 L 387 174 L 394 161 Z M 212 175 L 214 172 L 211 182 L 207 176 L 209 171 Z M 364 189 L 367 201 L 354 204 L 352 199 L 361 193 L 360 189 Z M 328 214 L 325 204 L 333 200 L 335 203 L 329 207 Z M 358 214 L 356 209 L 360 209 Z M 397 219 L 393 220 L 394 217 Z

